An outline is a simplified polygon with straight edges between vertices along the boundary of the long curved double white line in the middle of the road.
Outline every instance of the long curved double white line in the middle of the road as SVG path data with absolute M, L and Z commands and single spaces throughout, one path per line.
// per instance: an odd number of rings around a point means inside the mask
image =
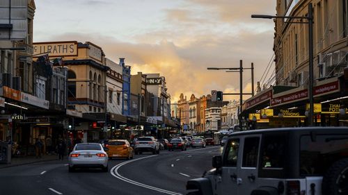
M 151 185 L 145 185 L 143 183 L 139 183 L 139 182 L 136 182 L 134 180 L 130 180 L 129 178 L 125 178 L 124 176 L 121 176 L 120 173 L 118 173 L 118 169 L 120 169 L 120 167 L 122 167 L 123 165 L 125 164 L 128 164 L 130 162 L 134 162 L 136 160 L 143 160 L 145 158 L 152 158 L 152 157 L 155 157 L 157 155 L 150 155 L 150 156 L 145 156 L 143 158 L 137 158 L 137 159 L 134 159 L 134 160 L 128 160 L 126 162 L 122 162 L 120 164 L 117 164 L 115 167 L 113 167 L 110 171 L 111 175 L 114 176 L 115 178 L 118 178 L 120 180 L 123 180 L 127 183 L 131 183 L 133 185 L 137 185 L 137 186 L 140 186 L 140 187 L 145 187 L 147 189 L 152 189 L 152 190 L 155 190 L 157 192 L 162 192 L 164 194 L 171 194 L 171 195 L 181 195 L 180 193 L 177 193 L 177 192 L 171 192 L 171 191 L 168 191 L 166 189 L 161 189 L 161 188 L 158 188 L 158 187 L 153 187 Z

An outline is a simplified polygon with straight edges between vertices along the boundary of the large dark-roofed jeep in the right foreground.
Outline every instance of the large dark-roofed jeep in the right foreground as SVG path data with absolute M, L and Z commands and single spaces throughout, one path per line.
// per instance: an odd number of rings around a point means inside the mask
M 247 130 L 227 141 L 188 194 L 347 194 L 347 127 Z

